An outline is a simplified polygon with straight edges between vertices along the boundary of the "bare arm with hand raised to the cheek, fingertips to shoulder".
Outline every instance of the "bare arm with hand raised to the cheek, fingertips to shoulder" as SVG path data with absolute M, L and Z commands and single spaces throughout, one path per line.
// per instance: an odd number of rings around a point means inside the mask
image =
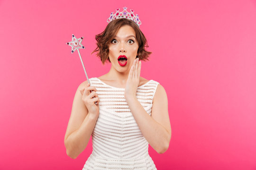
M 137 100 L 141 61 L 133 61 L 125 88 L 125 99 L 137 122 L 141 133 L 157 153 L 165 153 L 171 140 L 171 124 L 168 114 L 168 101 L 162 85 L 156 87 L 151 116 Z

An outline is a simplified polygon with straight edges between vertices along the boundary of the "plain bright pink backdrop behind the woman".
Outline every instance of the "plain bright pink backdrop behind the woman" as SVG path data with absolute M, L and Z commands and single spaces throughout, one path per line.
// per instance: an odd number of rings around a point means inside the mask
M 141 76 L 165 87 L 172 139 L 159 170 L 256 170 L 255 0 L 1 0 L 0 170 L 82 170 L 64 134 L 75 91 L 107 73 L 91 55 L 110 12 L 133 8 L 150 61 Z

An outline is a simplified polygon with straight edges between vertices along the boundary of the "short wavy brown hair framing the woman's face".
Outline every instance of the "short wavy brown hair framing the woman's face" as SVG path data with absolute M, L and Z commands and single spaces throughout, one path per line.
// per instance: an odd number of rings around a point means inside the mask
M 126 18 L 119 18 L 111 21 L 105 28 L 105 30 L 101 34 L 97 34 L 95 36 L 97 48 L 91 52 L 97 51 L 96 56 L 101 59 L 102 64 L 105 64 L 105 61 L 108 60 L 110 62 L 109 58 L 109 43 L 112 41 L 112 39 L 117 34 L 119 28 L 121 26 L 131 26 L 135 33 L 136 33 L 136 40 L 138 42 L 138 51 L 137 51 L 137 57 L 139 60 L 149 60 L 148 57 L 152 53 L 150 51 L 146 51 L 145 47 L 148 47 L 146 37 L 141 32 L 137 24 L 129 19 Z

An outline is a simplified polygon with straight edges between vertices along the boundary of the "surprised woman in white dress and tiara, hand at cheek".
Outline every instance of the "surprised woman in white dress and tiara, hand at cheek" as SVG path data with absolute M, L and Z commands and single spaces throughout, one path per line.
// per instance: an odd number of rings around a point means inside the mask
M 83 170 L 156 170 L 148 144 L 157 153 L 169 147 L 167 95 L 158 82 L 140 76 L 139 60 L 151 52 L 145 50 L 138 22 L 130 19 L 133 11 L 117 9 L 111 16 L 117 13 L 120 18 L 111 17 L 96 35 L 98 47 L 93 51 L 103 64 L 111 63 L 110 71 L 90 78 L 91 86 L 88 81 L 79 85 L 64 139 L 66 153 L 75 159 L 92 136 L 93 151 Z

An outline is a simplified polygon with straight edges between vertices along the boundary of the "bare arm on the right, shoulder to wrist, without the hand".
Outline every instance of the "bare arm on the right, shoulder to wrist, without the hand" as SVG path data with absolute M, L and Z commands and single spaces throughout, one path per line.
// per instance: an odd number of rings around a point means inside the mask
M 171 124 L 168 114 L 168 102 L 162 85 L 156 88 L 151 117 L 136 96 L 127 100 L 129 108 L 147 142 L 157 153 L 165 153 L 171 140 Z

